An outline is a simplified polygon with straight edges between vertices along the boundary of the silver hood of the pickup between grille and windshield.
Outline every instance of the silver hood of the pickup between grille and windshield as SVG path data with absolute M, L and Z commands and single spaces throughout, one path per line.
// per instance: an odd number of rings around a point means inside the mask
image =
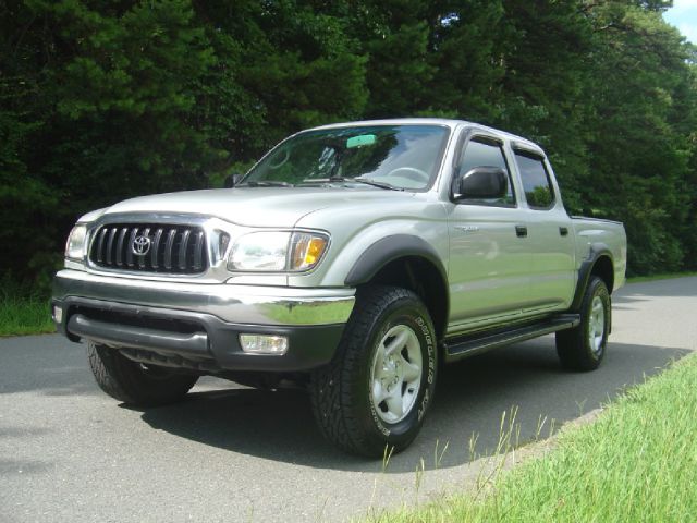
M 156 194 L 121 202 L 111 214 L 195 214 L 247 227 L 293 227 L 325 208 L 380 205 L 412 198 L 413 193 L 375 187 L 237 187 Z

